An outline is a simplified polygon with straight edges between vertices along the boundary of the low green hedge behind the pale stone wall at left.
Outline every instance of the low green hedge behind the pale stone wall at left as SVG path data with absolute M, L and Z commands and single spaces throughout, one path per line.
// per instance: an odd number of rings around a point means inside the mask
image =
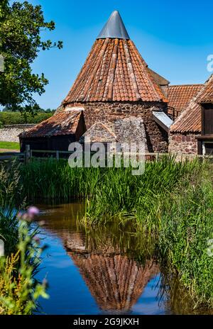
M 40 123 L 50 118 L 50 116 L 53 116 L 53 113 L 37 113 L 35 116 L 31 116 L 30 114 L 23 116 L 20 112 L 0 112 L 0 122 L 1 126 Z

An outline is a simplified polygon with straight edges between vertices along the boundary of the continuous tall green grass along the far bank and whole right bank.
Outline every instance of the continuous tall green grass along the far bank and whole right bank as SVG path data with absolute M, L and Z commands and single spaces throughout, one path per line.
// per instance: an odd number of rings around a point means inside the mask
M 34 160 L 20 174 L 28 200 L 87 199 L 87 226 L 131 219 L 141 235 L 155 238 L 160 263 L 178 272 L 194 306 L 213 306 L 212 164 L 164 157 L 132 176 L 131 168 L 71 169 L 65 160 Z

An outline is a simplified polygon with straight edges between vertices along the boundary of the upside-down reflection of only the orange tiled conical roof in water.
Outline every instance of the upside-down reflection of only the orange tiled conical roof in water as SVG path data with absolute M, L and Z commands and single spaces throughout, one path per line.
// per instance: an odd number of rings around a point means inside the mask
M 158 267 L 144 267 L 123 255 L 85 255 L 67 252 L 103 311 L 130 311 Z

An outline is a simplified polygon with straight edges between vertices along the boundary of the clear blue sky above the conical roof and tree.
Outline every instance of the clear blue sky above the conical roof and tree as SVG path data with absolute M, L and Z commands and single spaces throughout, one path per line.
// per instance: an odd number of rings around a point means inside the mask
M 55 31 L 44 38 L 62 40 L 62 50 L 40 52 L 36 73 L 49 79 L 46 92 L 35 96 L 43 108 L 57 108 L 75 81 L 95 38 L 114 10 L 151 69 L 171 84 L 203 83 L 207 56 L 213 54 L 213 1 L 191 0 L 31 0 L 43 7 Z

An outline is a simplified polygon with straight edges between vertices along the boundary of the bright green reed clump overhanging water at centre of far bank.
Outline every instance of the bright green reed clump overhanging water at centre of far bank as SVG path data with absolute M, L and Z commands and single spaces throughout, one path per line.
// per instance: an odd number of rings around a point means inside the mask
M 140 223 L 143 219 L 143 228 L 150 230 L 150 217 L 158 221 L 159 200 L 199 167 L 197 161 L 180 163 L 165 157 L 160 162 L 146 163 L 141 176 L 132 176 L 131 168 L 113 168 L 87 201 L 87 220 L 99 224 L 113 216 L 131 216 Z

